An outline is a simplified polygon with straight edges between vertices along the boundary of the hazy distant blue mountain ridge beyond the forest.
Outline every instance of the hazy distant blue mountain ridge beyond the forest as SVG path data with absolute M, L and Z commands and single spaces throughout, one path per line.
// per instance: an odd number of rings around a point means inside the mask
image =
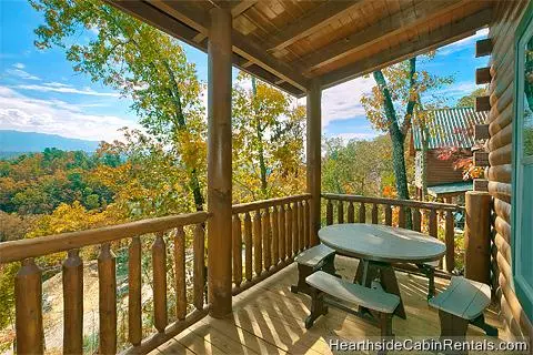
M 94 152 L 99 143 L 97 141 L 84 141 L 57 134 L 0 130 L 0 155 L 42 152 L 46 148 L 57 148 L 63 151 Z

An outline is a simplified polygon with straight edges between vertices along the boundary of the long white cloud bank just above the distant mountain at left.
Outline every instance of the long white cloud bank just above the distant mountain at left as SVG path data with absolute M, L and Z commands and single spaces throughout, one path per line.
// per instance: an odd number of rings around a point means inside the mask
M 0 129 L 59 134 L 84 140 L 122 139 L 123 126 L 139 124 L 114 115 L 83 113 L 83 105 L 60 100 L 39 100 L 0 87 Z

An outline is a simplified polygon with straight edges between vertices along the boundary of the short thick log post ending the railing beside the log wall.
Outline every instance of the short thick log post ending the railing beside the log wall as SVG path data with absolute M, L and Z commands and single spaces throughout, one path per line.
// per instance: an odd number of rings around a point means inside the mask
M 464 276 L 485 284 L 491 282 L 491 195 L 466 192 L 464 226 Z

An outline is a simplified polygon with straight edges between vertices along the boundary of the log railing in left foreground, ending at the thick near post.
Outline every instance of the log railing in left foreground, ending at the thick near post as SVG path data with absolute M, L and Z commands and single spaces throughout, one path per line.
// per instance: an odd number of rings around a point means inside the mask
M 208 213 L 143 220 L 81 232 L 63 233 L 0 244 L 0 264 L 21 262 L 16 276 L 17 353 L 43 352 L 42 280 L 37 257 L 67 252 L 63 276 L 63 353 L 81 354 L 83 348 L 83 261 L 80 250 L 99 246 L 99 353 L 114 354 L 117 344 L 117 265 L 113 246 L 128 244 L 128 342 L 127 353 L 145 353 L 175 336 L 208 314 L 204 303 L 204 224 Z M 185 229 L 184 229 L 185 227 Z M 192 306 L 185 290 L 185 235 L 192 236 Z M 141 243 L 153 239 L 154 332 L 143 337 L 141 294 Z M 128 243 L 129 241 L 129 243 Z M 167 243 L 173 244 L 168 251 Z M 173 253 L 175 321 L 169 322 L 167 255 Z M 188 308 L 192 311 L 188 313 Z M 145 332 L 144 332 L 145 333 Z

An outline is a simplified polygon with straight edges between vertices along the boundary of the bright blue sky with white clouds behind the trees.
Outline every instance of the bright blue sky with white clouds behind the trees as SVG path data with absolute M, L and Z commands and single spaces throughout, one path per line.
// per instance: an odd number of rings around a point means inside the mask
M 64 51 L 39 50 L 33 30 L 43 22 L 40 13 L 23 0 L 0 1 L 0 130 L 59 134 L 92 141 L 120 139 L 123 126 L 139 128 L 131 100 L 76 73 Z M 90 30 L 88 30 L 90 31 Z M 91 33 L 76 40 L 87 42 Z M 441 48 L 436 57 L 421 60 L 419 68 L 438 75 L 453 75 L 454 83 L 439 92 L 450 105 L 472 92 L 474 72 L 486 58 L 475 58 L 474 44 L 486 30 Z M 183 44 L 200 80 L 207 81 L 207 54 Z M 237 70 L 234 70 L 234 75 Z M 324 90 L 322 129 L 326 136 L 371 139 L 380 132 L 364 115 L 360 98 L 374 85 L 372 78 L 359 78 Z

